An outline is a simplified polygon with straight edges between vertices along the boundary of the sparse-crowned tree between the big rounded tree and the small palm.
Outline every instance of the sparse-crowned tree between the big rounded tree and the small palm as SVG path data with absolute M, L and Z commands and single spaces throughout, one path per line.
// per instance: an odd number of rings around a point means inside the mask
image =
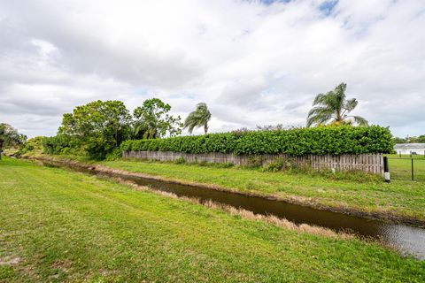
M 147 99 L 133 112 L 134 138 L 155 139 L 166 135 L 175 136 L 182 133 L 180 116 L 174 118 L 168 114 L 171 106 L 158 98 Z

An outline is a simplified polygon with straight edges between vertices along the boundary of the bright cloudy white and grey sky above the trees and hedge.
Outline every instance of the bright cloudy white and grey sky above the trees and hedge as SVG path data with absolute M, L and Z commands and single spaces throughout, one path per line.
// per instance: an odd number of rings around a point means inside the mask
M 183 118 L 207 103 L 213 132 L 303 126 L 342 81 L 354 114 L 425 134 L 425 1 L 0 0 L 0 122 L 28 136 L 153 96 Z

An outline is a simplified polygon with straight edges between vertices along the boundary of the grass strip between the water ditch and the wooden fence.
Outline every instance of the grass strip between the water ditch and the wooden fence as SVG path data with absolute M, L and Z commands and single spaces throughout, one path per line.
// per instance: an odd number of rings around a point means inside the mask
M 384 181 L 330 180 L 305 173 L 259 172 L 256 169 L 236 167 L 217 168 L 133 160 L 101 164 L 170 180 L 213 184 L 229 190 L 273 195 L 282 199 L 299 198 L 313 206 L 325 205 L 383 214 L 390 212 L 425 221 L 425 182 L 393 180 L 387 184 Z

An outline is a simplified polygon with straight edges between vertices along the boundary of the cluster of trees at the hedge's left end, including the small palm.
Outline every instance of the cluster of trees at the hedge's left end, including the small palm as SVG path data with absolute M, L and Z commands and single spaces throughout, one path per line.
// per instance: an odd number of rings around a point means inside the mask
M 157 139 L 192 133 L 204 126 L 205 134 L 211 113 L 199 103 L 185 122 L 170 114 L 171 105 L 158 98 L 147 99 L 133 113 L 120 101 L 95 101 L 77 106 L 63 116 L 58 134 L 42 140 L 50 154 L 88 155 L 93 159 L 120 156 L 120 144 L 129 139 Z

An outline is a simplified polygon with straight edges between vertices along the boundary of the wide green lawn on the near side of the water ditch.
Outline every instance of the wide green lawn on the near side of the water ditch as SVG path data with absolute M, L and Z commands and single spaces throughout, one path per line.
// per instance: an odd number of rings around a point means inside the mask
M 374 243 L 298 233 L 10 158 L 0 161 L 0 229 L 2 282 L 425 279 L 425 262 Z

